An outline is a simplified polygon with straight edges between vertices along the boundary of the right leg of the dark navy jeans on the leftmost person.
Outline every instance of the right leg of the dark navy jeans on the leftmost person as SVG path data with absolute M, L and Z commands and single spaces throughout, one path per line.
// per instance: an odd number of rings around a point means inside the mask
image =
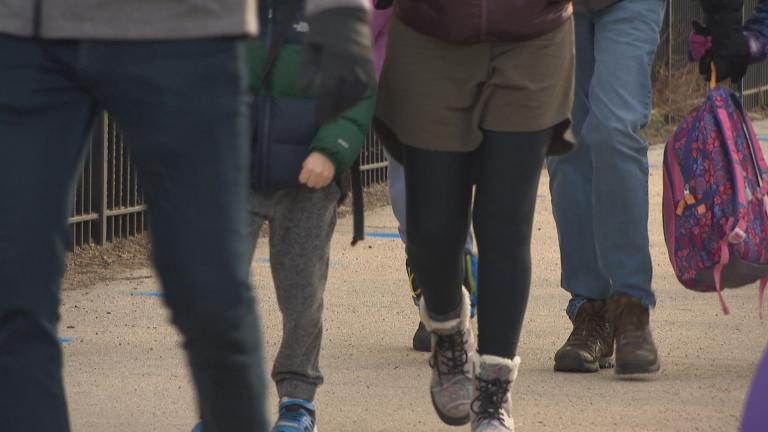
M 87 85 L 123 127 L 153 258 L 206 432 L 268 430 L 249 284 L 248 93 L 240 42 L 93 42 Z

